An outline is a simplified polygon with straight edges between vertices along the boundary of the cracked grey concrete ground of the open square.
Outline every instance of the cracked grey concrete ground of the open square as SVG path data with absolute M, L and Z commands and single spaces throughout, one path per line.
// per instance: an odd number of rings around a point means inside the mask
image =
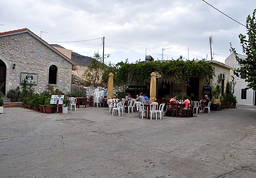
M 141 119 L 4 108 L 0 177 L 256 177 L 256 107 Z

